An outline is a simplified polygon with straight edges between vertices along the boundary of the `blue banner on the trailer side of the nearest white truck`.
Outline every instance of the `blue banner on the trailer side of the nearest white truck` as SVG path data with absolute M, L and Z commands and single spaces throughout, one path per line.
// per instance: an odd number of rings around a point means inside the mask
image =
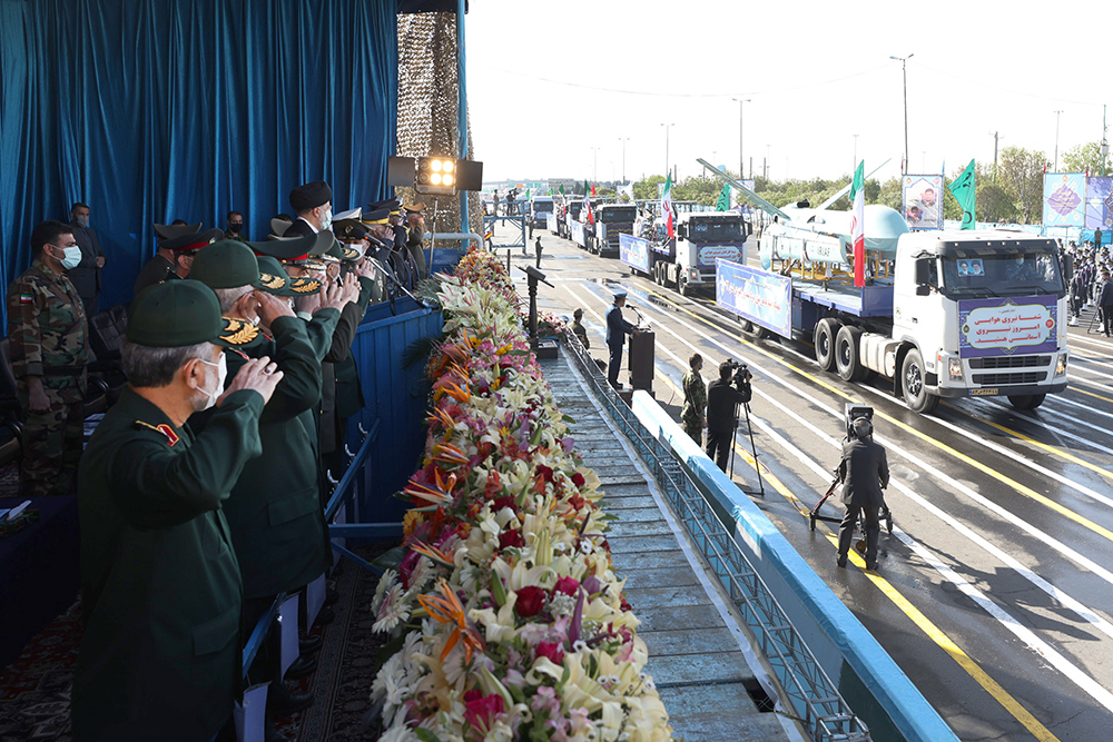
M 792 336 L 792 279 L 787 276 L 719 258 L 715 303 L 781 337 Z

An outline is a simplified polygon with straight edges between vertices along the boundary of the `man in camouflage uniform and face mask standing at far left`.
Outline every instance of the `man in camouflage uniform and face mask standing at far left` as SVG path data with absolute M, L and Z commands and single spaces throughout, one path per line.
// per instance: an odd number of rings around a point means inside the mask
M 8 338 L 16 390 L 27 413 L 20 495 L 66 495 L 81 457 L 88 326 L 66 271 L 81 261 L 73 228 L 43 221 L 31 233 L 35 261 L 8 287 Z

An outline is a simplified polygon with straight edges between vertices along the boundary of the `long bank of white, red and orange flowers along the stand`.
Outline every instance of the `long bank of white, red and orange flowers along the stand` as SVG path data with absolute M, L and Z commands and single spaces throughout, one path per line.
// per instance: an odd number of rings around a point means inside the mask
M 669 740 L 599 478 L 529 352 L 505 269 L 479 251 L 460 265 L 441 286 L 405 557 L 372 603 L 400 644 L 372 687 L 381 739 Z

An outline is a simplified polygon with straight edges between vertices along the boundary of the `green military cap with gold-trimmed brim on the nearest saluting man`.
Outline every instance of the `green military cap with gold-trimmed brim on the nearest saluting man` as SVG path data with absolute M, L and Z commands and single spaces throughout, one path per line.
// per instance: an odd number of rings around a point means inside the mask
M 127 338 L 150 348 L 180 348 L 200 343 L 245 347 L 259 338 L 250 323 L 220 316 L 213 289 L 196 280 L 155 284 L 131 305 Z

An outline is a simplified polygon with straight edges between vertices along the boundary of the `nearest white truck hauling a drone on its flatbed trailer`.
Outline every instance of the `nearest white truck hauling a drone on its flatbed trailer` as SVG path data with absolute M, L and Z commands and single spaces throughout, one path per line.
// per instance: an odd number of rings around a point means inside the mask
M 908 408 L 1005 396 L 1032 409 L 1066 389 L 1066 287 L 1054 239 L 1023 231 L 908 231 L 865 210 L 868 277 L 855 286 L 847 212 L 786 210 L 761 267 L 719 261 L 716 303 L 754 337 L 810 340 L 846 382 L 888 379 Z

